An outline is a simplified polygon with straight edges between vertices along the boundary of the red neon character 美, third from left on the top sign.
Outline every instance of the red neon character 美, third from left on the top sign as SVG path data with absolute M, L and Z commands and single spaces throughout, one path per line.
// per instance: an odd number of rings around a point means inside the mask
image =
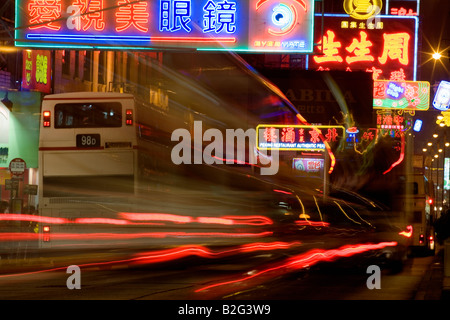
M 148 31 L 148 16 L 147 2 L 134 2 L 131 0 L 120 0 L 117 2 L 119 6 L 116 12 L 116 22 L 120 24 L 116 27 L 117 32 L 124 31 L 131 26 L 142 32 Z M 126 5 L 128 3 L 128 5 Z

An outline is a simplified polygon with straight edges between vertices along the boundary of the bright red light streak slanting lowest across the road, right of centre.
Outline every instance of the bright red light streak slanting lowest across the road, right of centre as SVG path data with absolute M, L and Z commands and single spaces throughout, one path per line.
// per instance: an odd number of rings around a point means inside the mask
M 331 249 L 331 250 L 313 249 L 306 253 L 286 259 L 283 263 L 280 263 L 279 265 L 261 270 L 256 273 L 253 273 L 247 277 L 239 278 L 239 279 L 231 280 L 231 281 L 215 283 L 215 284 L 197 289 L 197 290 L 195 290 L 195 292 L 201 292 L 201 291 L 209 290 L 209 289 L 223 286 L 223 285 L 244 282 L 244 281 L 254 279 L 256 277 L 259 277 L 259 276 L 262 276 L 265 274 L 269 274 L 269 273 L 274 273 L 272 275 L 272 277 L 280 276 L 281 274 L 288 273 L 290 271 L 310 267 L 321 261 L 331 261 L 336 258 L 350 257 L 355 254 L 360 254 L 360 253 L 370 251 L 370 250 L 379 250 L 379 249 L 383 249 L 383 248 L 389 247 L 389 246 L 397 246 L 397 242 L 393 241 L 393 242 L 380 242 L 377 244 L 347 245 L 347 246 L 342 246 L 338 249 Z M 271 276 L 271 275 L 269 274 L 268 276 Z

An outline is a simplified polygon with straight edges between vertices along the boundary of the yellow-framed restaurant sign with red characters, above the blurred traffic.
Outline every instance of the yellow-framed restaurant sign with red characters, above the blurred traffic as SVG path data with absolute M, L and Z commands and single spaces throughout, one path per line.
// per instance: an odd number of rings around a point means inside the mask
M 256 128 L 260 150 L 324 151 L 325 143 L 339 142 L 343 126 L 259 125 Z

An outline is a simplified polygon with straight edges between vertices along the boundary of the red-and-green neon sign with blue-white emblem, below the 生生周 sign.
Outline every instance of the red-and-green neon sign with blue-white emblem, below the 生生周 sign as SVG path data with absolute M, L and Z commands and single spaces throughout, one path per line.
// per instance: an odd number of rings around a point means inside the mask
M 373 107 L 378 109 L 428 110 L 430 83 L 427 81 L 375 80 Z

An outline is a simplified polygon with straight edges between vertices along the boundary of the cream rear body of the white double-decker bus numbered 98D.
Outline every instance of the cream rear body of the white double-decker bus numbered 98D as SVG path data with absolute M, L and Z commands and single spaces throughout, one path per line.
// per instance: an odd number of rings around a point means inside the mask
M 111 114 L 105 113 L 105 118 L 117 117 L 114 127 L 90 124 L 83 128 L 77 125 L 76 115 L 70 112 L 79 105 L 89 104 L 93 109 L 96 105 L 114 105 Z M 62 112 L 57 114 L 55 107 L 62 108 Z M 120 115 L 114 114 L 118 110 Z M 95 241 L 84 239 L 83 232 L 111 232 L 112 226 L 88 226 L 74 221 L 86 217 L 116 218 L 118 212 L 132 210 L 130 196 L 135 192 L 137 173 L 134 97 L 93 92 L 52 94 L 44 97 L 41 112 L 43 116 L 49 112 L 50 125 L 44 126 L 44 118 L 40 124 L 39 214 L 64 218 L 67 223 L 41 223 L 40 248 L 97 245 Z M 70 122 L 64 112 L 73 116 Z M 127 112 L 133 116 L 130 125 L 126 123 Z M 61 118 L 58 120 L 57 117 Z M 83 137 L 100 139 L 81 141 Z M 83 145 L 81 142 L 89 143 Z M 63 240 L 61 235 L 72 238 Z M 106 241 L 104 245 L 113 244 Z

